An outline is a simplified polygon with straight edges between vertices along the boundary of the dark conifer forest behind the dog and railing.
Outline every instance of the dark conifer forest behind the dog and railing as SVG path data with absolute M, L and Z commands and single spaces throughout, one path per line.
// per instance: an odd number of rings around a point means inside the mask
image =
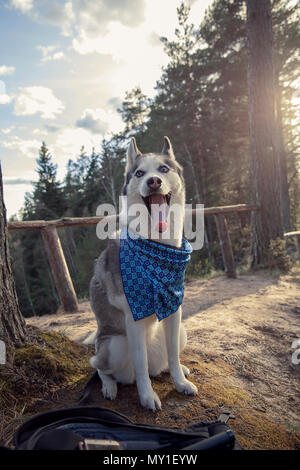
M 100 152 L 88 154 L 82 147 L 69 160 L 63 181 L 58 180 L 57 165 L 43 142 L 37 155 L 38 180 L 26 194 L 19 218 L 94 216 L 101 203 L 118 207 L 132 136 L 144 152 L 159 152 L 163 136 L 169 136 L 184 168 L 187 202 L 211 207 L 252 201 L 246 4 L 215 0 L 200 25 L 190 22 L 185 3 L 177 14 L 176 39 L 161 38 L 168 65 L 154 98 L 138 86 L 129 90 L 119 109 L 123 131 L 103 140 Z M 297 2 L 272 1 L 274 125 L 284 232 L 296 230 L 300 219 L 298 25 Z M 241 272 L 253 264 L 250 222 L 248 214 L 228 219 Z M 216 230 L 213 217 L 207 216 L 205 244 L 193 253 L 188 278 L 223 269 Z M 61 228 L 59 236 L 77 296 L 87 298 L 94 261 L 105 242 L 96 237 L 95 227 Z M 286 270 L 285 247 L 275 242 L 278 256 L 261 267 Z M 39 231 L 10 232 L 10 252 L 22 314 L 54 313 L 60 302 Z

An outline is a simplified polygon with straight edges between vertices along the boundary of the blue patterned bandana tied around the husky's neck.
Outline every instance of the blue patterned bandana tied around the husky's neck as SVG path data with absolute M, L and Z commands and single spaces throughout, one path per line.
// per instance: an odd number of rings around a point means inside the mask
M 191 252 L 184 238 L 181 249 L 175 249 L 122 230 L 120 269 L 134 320 L 156 313 L 160 321 L 178 310 Z

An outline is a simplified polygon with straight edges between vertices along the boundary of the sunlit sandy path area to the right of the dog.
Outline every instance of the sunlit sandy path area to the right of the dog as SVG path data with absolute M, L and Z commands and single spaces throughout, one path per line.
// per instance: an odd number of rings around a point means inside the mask
M 196 281 L 188 292 L 185 318 L 195 354 L 222 358 L 235 370 L 228 383 L 250 392 L 271 418 L 299 426 L 300 365 L 291 356 L 300 338 L 300 277 L 216 278 Z

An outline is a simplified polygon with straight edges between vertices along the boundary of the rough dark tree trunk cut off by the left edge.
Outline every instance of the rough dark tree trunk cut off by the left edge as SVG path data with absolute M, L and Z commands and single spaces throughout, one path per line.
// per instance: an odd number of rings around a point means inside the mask
M 23 342 L 25 336 L 25 320 L 19 310 L 10 264 L 6 209 L 3 200 L 0 165 L 0 338 L 5 343 L 14 344 Z

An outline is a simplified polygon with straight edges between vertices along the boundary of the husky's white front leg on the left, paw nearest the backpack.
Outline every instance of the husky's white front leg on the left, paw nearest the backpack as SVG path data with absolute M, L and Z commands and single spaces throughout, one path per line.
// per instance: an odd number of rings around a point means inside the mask
M 153 411 L 160 410 L 161 402 L 152 388 L 148 372 L 145 320 L 134 321 L 131 313 L 126 315 L 126 332 L 141 404 Z

